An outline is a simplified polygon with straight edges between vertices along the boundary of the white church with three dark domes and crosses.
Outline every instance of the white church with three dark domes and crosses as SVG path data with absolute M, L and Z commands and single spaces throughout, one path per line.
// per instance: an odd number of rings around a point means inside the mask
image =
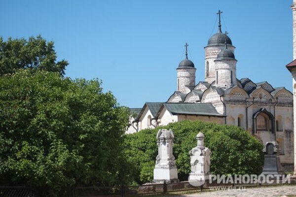
M 147 102 L 143 108 L 131 108 L 130 127 L 126 133 L 155 128 L 183 120 L 201 120 L 236 125 L 255 135 L 262 144 L 277 141 L 280 161 L 293 170 L 293 94 L 268 82 L 236 78 L 235 47 L 227 33 L 222 33 L 221 11 L 218 33 L 212 35 L 205 49 L 205 80 L 195 82 L 196 68 L 187 58 L 177 67 L 177 91 L 166 102 Z

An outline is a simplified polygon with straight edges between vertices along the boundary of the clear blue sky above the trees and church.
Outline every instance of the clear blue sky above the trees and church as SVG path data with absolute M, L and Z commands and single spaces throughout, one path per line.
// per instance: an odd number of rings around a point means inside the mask
M 6 0 L 0 35 L 55 42 L 66 76 L 99 78 L 121 105 L 166 101 L 177 88 L 184 44 L 204 80 L 204 46 L 222 31 L 236 47 L 237 78 L 292 90 L 292 0 Z

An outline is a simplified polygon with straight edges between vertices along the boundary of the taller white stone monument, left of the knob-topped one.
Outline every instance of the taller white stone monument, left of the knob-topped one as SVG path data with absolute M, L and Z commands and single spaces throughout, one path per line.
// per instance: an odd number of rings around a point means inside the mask
M 174 134 L 171 130 L 160 129 L 157 132 L 158 155 L 154 168 L 155 183 L 176 183 L 178 179 L 178 169 L 175 157 L 173 156 Z

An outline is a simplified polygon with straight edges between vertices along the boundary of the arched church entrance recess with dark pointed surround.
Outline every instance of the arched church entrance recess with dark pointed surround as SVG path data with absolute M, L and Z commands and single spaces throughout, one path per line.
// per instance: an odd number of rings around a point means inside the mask
M 263 145 L 275 141 L 274 117 L 266 109 L 262 108 L 253 115 L 253 125 L 254 134 Z

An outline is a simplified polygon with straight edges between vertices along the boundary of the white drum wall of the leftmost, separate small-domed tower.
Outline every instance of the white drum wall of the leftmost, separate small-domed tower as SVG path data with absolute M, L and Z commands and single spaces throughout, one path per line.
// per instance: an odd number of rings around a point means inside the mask
M 194 67 L 177 68 L 177 90 L 188 94 L 195 86 Z

